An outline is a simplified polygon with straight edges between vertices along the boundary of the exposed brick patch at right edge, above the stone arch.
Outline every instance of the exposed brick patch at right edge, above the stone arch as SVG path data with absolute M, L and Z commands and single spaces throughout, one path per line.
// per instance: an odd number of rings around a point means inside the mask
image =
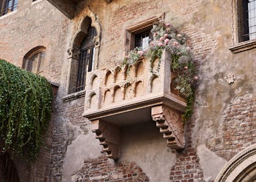
M 256 98 L 252 94 L 235 97 L 220 119 L 218 136 L 207 147 L 226 160 L 256 143 Z

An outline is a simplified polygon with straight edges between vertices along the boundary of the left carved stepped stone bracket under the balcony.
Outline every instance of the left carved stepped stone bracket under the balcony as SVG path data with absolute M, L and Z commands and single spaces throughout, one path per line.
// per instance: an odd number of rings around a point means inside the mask
M 96 134 L 100 145 L 103 146 L 103 151 L 107 153 L 107 157 L 117 160 L 120 157 L 120 127 L 97 119 L 92 121 L 92 132 Z

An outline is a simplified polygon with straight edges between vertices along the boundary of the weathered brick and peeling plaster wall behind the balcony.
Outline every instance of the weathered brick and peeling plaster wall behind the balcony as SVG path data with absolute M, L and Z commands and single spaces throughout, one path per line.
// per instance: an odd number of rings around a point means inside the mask
M 32 4 L 23 0 L 17 12 L 0 17 L 0 58 L 21 67 L 31 48 L 45 46 L 48 68 L 42 75 L 60 84 L 52 132 L 47 134 L 52 136 L 51 154 L 42 149 L 31 181 L 97 181 L 100 175 L 105 181 L 213 181 L 227 160 L 255 143 L 256 52 L 255 48 L 236 54 L 229 50 L 234 36 L 232 2 L 81 1 L 75 18 L 68 20 L 46 0 Z M 146 130 L 133 125 L 122 130 L 120 160 L 107 160 L 90 131 L 90 121 L 82 117 L 84 97 L 63 102 L 68 87 L 66 50 L 88 5 L 101 25 L 98 68 L 123 60 L 128 27 L 162 13 L 166 22 L 182 25 L 199 75 L 194 115 L 185 124 L 185 150 L 170 151 L 150 123 Z M 225 80 L 230 73 L 236 77 L 232 85 Z M 161 175 L 151 166 L 157 166 Z

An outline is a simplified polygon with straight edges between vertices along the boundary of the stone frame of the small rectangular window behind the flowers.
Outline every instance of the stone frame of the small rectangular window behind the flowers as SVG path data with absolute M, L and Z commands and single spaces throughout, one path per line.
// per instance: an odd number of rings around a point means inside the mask
M 144 31 L 147 28 L 154 25 L 156 22 L 159 22 L 160 20 L 164 20 L 164 13 L 158 14 L 157 16 L 153 16 L 147 20 L 143 20 L 141 22 L 136 23 L 136 25 L 131 25 L 127 29 L 125 29 L 125 42 L 124 42 L 124 52 L 123 57 L 127 55 L 127 52 L 129 50 L 134 48 L 134 42 L 135 42 L 135 35 L 138 33 L 138 31 Z

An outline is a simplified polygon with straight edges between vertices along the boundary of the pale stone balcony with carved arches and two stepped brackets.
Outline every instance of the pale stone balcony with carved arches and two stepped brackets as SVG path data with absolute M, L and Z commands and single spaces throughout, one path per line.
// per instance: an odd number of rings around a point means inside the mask
M 159 69 L 157 69 L 159 68 Z M 155 121 L 172 149 L 185 145 L 182 113 L 185 99 L 173 89 L 170 55 L 151 63 L 140 59 L 131 67 L 105 67 L 86 76 L 84 117 L 92 121 L 107 156 L 120 156 L 120 127 Z

